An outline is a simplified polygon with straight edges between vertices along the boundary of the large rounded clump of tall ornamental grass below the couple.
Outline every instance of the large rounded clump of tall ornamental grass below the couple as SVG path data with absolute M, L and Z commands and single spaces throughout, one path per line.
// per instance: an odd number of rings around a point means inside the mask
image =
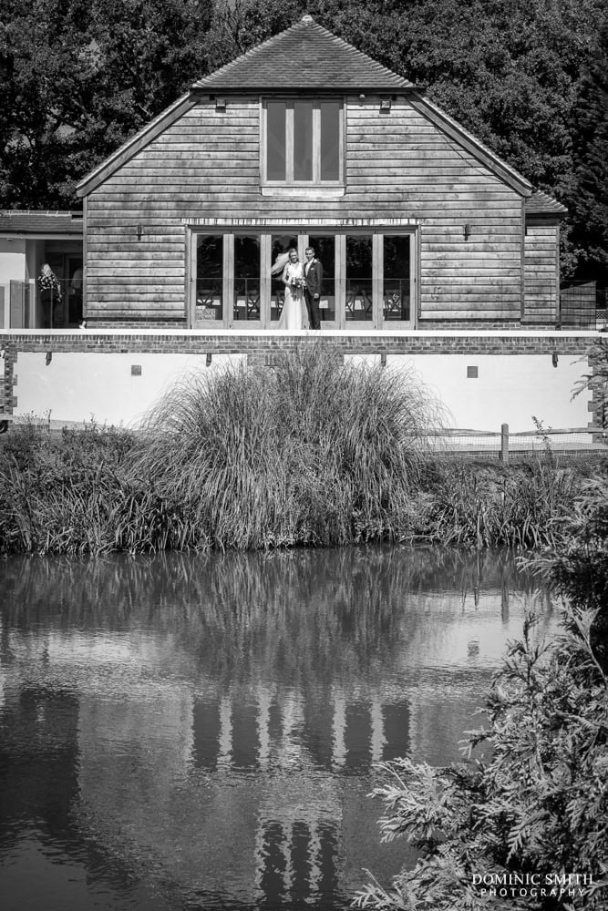
M 322 343 L 273 368 L 193 374 L 149 415 L 134 476 L 216 548 L 396 539 L 438 407 L 419 384 Z

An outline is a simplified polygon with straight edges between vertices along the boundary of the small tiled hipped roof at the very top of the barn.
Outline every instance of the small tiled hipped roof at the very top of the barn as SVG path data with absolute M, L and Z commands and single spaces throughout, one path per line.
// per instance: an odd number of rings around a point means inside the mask
M 192 88 L 394 91 L 414 85 L 304 15 L 294 26 L 202 77 Z

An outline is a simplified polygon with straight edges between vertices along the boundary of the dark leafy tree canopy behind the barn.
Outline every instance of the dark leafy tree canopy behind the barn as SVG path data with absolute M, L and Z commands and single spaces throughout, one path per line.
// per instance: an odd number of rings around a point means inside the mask
M 204 76 L 309 12 L 568 206 L 562 267 L 605 281 L 603 0 L 0 0 L 0 206 L 75 185 Z

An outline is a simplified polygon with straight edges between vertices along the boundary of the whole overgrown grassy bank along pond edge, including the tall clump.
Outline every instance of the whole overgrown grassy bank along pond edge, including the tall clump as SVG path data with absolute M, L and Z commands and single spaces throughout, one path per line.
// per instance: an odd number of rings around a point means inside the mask
M 441 418 L 414 376 L 397 384 L 319 345 L 277 357 L 272 370 L 192 375 L 137 435 L 16 426 L 0 451 L 0 548 L 549 542 L 580 476 L 539 461 L 448 465 L 427 445 Z

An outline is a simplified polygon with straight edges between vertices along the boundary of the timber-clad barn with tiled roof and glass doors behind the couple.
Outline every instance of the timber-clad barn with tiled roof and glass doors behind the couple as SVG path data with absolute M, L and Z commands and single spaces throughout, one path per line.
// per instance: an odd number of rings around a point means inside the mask
M 322 329 L 551 328 L 561 204 L 310 15 L 79 184 L 89 328 L 272 330 L 314 246 Z

